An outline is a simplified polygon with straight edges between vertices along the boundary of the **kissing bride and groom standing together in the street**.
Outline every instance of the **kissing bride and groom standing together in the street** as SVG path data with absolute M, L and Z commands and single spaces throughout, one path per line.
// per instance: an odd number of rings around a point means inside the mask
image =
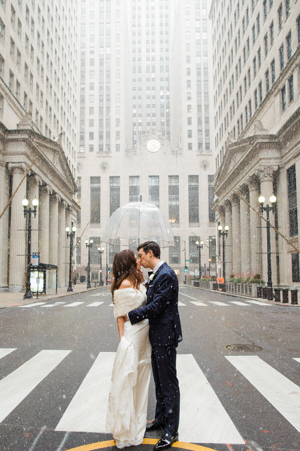
M 155 451 L 178 441 L 179 385 L 176 348 L 182 341 L 178 279 L 160 259 L 154 241 L 116 253 L 112 263 L 112 301 L 120 343 L 112 370 L 106 431 L 118 448 L 140 445 L 145 431 L 163 429 Z M 141 266 L 150 268 L 149 283 Z M 155 419 L 147 421 L 150 362 L 155 383 Z

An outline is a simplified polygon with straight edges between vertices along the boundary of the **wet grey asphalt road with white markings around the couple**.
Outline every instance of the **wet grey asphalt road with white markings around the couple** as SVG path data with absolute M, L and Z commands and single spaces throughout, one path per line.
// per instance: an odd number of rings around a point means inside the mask
M 95 429 L 93 418 L 96 429 L 103 428 L 106 405 L 100 401 L 107 396 L 109 353 L 118 345 L 108 290 L 58 299 L 64 304 L 54 299 L 54 305 L 0 310 L 1 449 L 61 451 L 112 439 L 87 432 Z M 300 451 L 300 308 L 182 285 L 179 292 L 179 440 L 218 451 Z M 232 344 L 263 349 L 225 348 Z M 151 380 L 149 419 L 154 408 Z M 58 423 L 69 426 L 55 430 Z M 96 448 L 80 451 L 88 449 Z

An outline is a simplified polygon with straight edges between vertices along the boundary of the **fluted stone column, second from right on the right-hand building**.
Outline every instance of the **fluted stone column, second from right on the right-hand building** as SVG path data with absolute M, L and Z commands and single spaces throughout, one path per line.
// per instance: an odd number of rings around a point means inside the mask
M 260 186 L 257 178 L 251 177 L 247 180 L 249 186 L 249 203 L 251 207 L 255 208 L 256 212 L 260 213 Z M 261 229 L 260 216 L 258 216 L 252 208 L 249 210 L 250 218 L 250 265 L 251 274 L 260 274 L 261 268 Z

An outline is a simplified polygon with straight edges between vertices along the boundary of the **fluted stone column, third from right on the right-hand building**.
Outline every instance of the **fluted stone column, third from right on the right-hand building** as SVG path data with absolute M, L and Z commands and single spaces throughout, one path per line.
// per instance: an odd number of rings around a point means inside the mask
M 245 186 L 240 190 L 242 198 L 249 202 L 248 190 Z M 240 225 L 241 225 L 241 268 L 243 277 L 250 276 L 250 224 L 249 207 L 240 199 Z

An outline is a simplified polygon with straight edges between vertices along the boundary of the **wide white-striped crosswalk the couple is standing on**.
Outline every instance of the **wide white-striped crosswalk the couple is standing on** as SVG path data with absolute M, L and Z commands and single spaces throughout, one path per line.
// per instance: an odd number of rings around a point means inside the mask
M 4 357 L 13 359 L 16 350 L 17 348 L 0 349 L 0 359 Z M 71 352 L 71 350 L 41 350 L 4 377 L 0 381 L 0 422 L 7 419 L 15 409 L 17 410 L 18 405 L 31 392 L 34 394 L 39 384 L 45 384 L 46 377 L 48 383 L 49 380 L 51 382 L 52 377 L 55 378 L 54 386 L 59 382 L 60 387 L 65 384 L 64 388 L 67 389 L 68 381 L 65 379 L 58 381 L 58 373 L 56 372 L 55 375 L 51 373 Z M 114 352 L 98 354 L 71 402 L 62 412 L 56 431 L 105 433 L 114 357 Z M 224 363 L 228 362 L 229 370 L 232 366 L 236 368 L 242 377 L 264 396 L 273 409 L 276 409 L 300 433 L 300 387 L 256 355 L 231 355 L 224 356 L 222 359 Z M 297 363 L 293 363 L 293 360 Z M 70 360 L 67 360 L 65 365 L 68 362 Z M 300 358 L 291 359 L 291 366 L 298 363 Z M 245 442 L 238 430 L 239 425 L 233 423 L 233 419 L 230 418 L 200 366 L 193 354 L 177 355 L 180 440 L 193 443 L 244 445 Z M 251 416 L 249 422 L 251 422 Z M 249 428 L 251 428 L 250 423 Z

